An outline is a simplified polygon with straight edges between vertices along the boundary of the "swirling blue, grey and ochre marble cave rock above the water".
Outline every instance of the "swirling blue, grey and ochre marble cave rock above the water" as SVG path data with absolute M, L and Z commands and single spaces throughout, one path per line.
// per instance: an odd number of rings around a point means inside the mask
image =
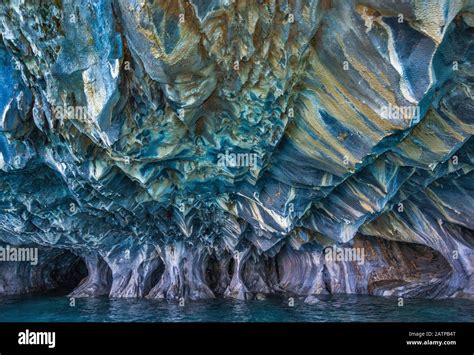
M 76 297 L 473 298 L 472 1 L 6 0 L 0 33 L 0 240 L 44 255 L 0 294 L 82 259 Z

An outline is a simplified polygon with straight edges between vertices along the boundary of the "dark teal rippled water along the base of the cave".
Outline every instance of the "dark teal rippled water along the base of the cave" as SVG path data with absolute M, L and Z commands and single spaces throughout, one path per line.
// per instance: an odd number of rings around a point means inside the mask
M 0 298 L 1 322 L 474 322 L 468 300 L 405 300 L 332 296 L 315 305 L 296 299 L 177 303 L 146 299 L 69 299 L 57 296 Z

